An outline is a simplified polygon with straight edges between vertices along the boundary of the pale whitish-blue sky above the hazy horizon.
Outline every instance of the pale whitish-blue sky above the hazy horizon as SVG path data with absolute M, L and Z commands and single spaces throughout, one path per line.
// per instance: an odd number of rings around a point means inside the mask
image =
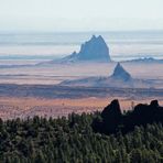
M 163 0 L 0 0 L 0 31 L 162 29 Z

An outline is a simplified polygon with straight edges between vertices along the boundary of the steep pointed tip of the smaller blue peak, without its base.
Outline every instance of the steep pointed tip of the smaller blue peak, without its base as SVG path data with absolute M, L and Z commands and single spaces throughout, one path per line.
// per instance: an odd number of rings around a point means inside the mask
M 111 77 L 122 80 L 130 80 L 132 78 L 131 75 L 121 66 L 120 63 L 118 63 L 117 66 L 115 67 Z

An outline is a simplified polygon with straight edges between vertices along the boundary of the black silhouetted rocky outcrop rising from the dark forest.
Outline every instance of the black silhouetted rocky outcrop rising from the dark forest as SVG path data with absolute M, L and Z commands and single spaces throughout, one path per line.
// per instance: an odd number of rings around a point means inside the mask
M 100 119 L 100 121 L 99 121 Z M 135 126 L 145 127 L 148 123 L 163 123 L 163 107 L 159 106 L 157 100 L 150 105 L 137 105 L 132 111 L 121 113 L 118 100 L 113 100 L 100 113 L 100 118 L 93 121 L 95 132 L 105 134 L 117 133 L 121 131 L 127 133 L 132 131 Z

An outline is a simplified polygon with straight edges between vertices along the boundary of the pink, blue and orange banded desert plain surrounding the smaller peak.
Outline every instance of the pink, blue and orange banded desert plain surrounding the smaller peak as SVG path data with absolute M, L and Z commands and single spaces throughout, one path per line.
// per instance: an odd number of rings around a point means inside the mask
M 93 76 L 110 76 L 117 63 L 74 63 L 0 68 L 2 119 L 62 117 L 70 112 L 101 110 L 119 99 L 122 110 L 157 99 L 163 105 L 163 64 L 130 63 L 122 66 L 133 78 L 154 82 L 152 88 L 66 87 L 59 83 Z

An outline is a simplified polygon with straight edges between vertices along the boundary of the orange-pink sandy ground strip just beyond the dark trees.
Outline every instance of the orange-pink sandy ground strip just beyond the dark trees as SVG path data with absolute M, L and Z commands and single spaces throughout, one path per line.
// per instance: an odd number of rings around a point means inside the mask
M 117 97 L 118 98 L 118 97 Z M 152 99 L 130 100 L 118 98 L 122 110 L 132 109 L 137 104 L 150 104 Z M 70 112 L 94 112 L 102 110 L 112 98 L 80 98 L 80 99 L 43 99 L 43 98 L 9 98 L 0 97 L 0 117 L 2 119 L 28 118 L 35 115 L 41 117 L 61 117 Z M 160 99 L 163 106 L 163 99 Z

